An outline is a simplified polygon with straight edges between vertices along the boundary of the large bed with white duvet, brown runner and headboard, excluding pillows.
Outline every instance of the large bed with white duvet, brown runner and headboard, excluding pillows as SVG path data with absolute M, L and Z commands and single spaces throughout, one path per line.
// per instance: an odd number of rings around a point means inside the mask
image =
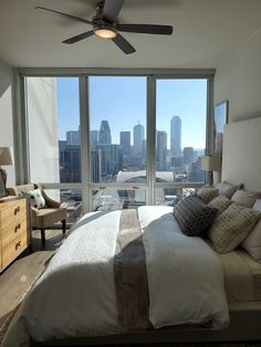
M 260 130 L 261 118 L 225 130 L 222 177 L 254 191 L 261 160 L 249 153 Z M 218 254 L 202 238 L 186 236 L 169 207 L 142 207 L 83 217 L 27 295 L 3 346 L 257 340 L 260 318 L 261 264 L 242 249 Z

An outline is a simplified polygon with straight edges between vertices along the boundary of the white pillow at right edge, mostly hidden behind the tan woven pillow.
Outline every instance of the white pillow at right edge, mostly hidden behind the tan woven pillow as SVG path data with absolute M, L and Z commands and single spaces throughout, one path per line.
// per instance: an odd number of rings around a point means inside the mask
M 253 206 L 254 211 L 261 212 L 261 200 L 257 200 Z M 261 263 L 261 220 L 254 225 L 248 238 L 243 240 L 241 246 L 259 263 Z

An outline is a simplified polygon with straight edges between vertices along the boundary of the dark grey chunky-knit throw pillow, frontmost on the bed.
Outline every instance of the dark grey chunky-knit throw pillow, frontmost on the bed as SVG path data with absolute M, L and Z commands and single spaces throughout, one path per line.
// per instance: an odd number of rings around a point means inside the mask
M 189 196 L 174 207 L 174 215 L 188 236 L 203 233 L 215 220 L 217 212 L 217 209 L 206 206 L 197 196 Z

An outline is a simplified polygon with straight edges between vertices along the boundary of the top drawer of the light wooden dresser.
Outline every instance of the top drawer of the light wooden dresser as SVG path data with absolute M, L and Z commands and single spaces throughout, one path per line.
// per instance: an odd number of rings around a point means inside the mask
M 18 222 L 24 215 L 27 215 L 25 199 L 6 202 L 0 212 L 0 230 L 4 230 L 8 225 Z

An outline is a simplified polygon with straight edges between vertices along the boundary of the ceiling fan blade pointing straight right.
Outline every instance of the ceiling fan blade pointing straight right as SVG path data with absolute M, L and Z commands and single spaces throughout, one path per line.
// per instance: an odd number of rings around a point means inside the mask
M 157 24 L 118 24 L 117 29 L 124 32 L 137 32 L 144 34 L 171 35 L 174 29 L 171 25 Z

